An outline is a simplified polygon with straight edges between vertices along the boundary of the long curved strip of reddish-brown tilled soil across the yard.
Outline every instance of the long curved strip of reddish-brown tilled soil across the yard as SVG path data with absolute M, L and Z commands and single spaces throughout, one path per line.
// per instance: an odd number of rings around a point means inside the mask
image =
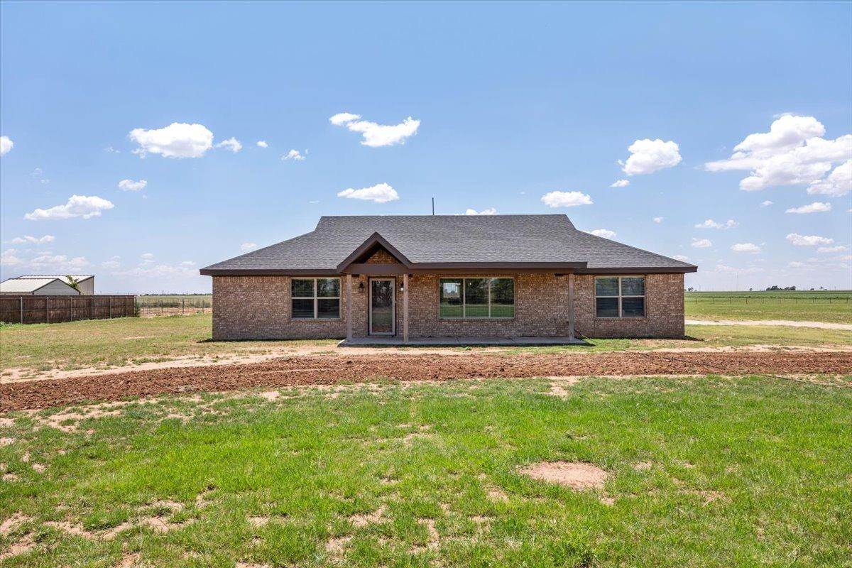
M 0 385 L 0 412 L 92 400 L 246 387 L 463 378 L 625 375 L 852 375 L 852 353 L 570 353 L 286 357 Z

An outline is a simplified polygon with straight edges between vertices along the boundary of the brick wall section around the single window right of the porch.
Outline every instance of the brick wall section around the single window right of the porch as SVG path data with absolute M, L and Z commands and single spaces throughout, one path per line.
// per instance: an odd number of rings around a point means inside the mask
M 683 274 L 645 275 L 644 318 L 596 318 L 595 277 L 574 276 L 575 328 L 588 337 L 682 337 Z

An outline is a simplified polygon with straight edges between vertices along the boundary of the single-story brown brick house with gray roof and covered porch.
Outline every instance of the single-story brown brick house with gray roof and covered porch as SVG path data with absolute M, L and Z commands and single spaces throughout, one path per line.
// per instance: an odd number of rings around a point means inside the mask
M 577 230 L 566 215 L 324 216 L 204 267 L 213 338 L 683 336 L 697 267 Z

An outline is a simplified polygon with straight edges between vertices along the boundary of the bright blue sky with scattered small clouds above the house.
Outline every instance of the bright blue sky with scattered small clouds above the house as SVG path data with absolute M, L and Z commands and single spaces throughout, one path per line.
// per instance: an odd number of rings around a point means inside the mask
M 3 2 L 0 272 L 207 291 L 434 197 L 566 213 L 702 290 L 849 289 L 850 134 L 852 3 Z

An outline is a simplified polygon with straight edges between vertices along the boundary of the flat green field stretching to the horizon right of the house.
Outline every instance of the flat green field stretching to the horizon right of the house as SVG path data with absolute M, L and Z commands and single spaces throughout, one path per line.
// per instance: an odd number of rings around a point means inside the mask
M 687 292 L 687 318 L 794 319 L 852 324 L 852 291 Z

